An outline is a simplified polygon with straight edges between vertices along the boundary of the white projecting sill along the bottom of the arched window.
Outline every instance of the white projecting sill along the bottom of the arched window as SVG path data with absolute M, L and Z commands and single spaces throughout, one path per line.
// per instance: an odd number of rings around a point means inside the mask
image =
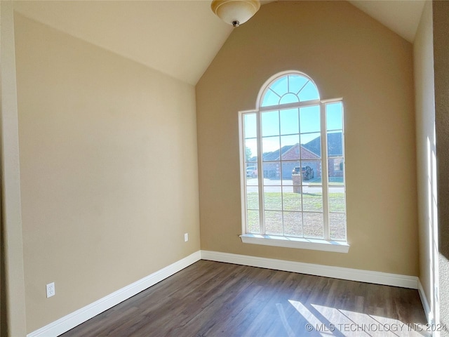
M 263 244 L 297 249 L 312 249 L 315 251 L 333 251 L 347 253 L 349 244 L 346 242 L 327 241 L 321 239 L 303 239 L 296 237 L 278 237 L 276 235 L 243 234 L 240 235 L 244 244 Z

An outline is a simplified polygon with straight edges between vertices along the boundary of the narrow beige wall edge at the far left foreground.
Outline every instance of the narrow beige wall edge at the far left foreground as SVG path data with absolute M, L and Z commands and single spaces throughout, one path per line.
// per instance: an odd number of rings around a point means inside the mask
M 18 103 L 12 1 L 0 1 L 0 335 L 25 335 Z

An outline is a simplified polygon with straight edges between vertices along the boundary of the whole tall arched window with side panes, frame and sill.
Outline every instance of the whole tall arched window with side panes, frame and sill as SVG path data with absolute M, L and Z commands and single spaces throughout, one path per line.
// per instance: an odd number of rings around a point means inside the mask
M 347 252 L 342 99 L 283 72 L 239 117 L 242 241 Z

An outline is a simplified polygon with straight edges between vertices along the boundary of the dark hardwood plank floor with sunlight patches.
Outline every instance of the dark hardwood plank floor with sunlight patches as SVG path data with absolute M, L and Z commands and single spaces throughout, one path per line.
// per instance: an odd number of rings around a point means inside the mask
M 413 289 L 200 260 L 61 336 L 427 336 L 425 323 Z

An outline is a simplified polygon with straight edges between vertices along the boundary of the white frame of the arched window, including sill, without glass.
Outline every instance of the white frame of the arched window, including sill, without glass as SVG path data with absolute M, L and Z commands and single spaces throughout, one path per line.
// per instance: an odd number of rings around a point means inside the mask
M 262 86 L 262 89 L 257 96 L 256 109 L 246 110 L 239 112 L 239 145 L 240 145 L 240 176 L 241 176 L 241 210 L 242 210 L 242 234 L 240 235 L 241 240 L 245 244 L 262 244 L 266 246 L 281 246 L 295 249 L 312 249 L 319 251 L 331 251 L 338 253 L 347 253 L 349 251 L 349 243 L 346 241 L 334 241 L 330 239 L 329 234 L 329 219 L 328 219 L 328 140 L 327 140 L 327 128 L 326 128 L 326 104 L 329 103 L 343 103 L 342 98 L 335 98 L 330 100 L 308 100 L 300 103 L 288 103 L 282 105 L 275 105 L 269 107 L 261 107 L 262 98 L 264 98 L 269 86 L 274 83 L 277 79 L 285 77 L 288 74 L 297 74 L 302 77 L 306 77 L 315 86 L 313 79 L 302 72 L 297 71 L 287 71 L 275 74 L 273 77 L 268 79 Z M 248 223 L 247 223 L 247 200 L 246 200 L 246 147 L 245 147 L 245 136 L 243 131 L 243 117 L 248 113 L 255 113 L 257 120 L 257 179 L 258 179 L 258 195 L 259 195 L 259 211 L 260 211 L 260 232 L 263 232 L 263 216 L 264 216 L 264 192 L 263 192 L 263 157 L 262 157 L 262 128 L 261 128 L 261 112 L 281 110 L 289 107 L 307 107 L 310 105 L 320 105 L 320 118 L 321 118 L 321 163 L 322 172 L 321 179 L 323 188 L 323 227 L 324 227 L 324 238 L 325 239 L 311 239 L 306 237 L 288 237 L 272 234 L 251 234 L 248 233 Z M 342 112 L 342 157 L 344 166 L 344 111 Z M 343 181 L 344 181 L 344 198 L 346 199 L 346 177 L 345 169 L 343 169 Z M 346 202 L 345 202 L 346 204 Z M 344 211 L 346 215 L 346 208 Z M 345 230 L 347 226 L 345 225 Z M 347 235 L 345 236 L 347 237 Z

